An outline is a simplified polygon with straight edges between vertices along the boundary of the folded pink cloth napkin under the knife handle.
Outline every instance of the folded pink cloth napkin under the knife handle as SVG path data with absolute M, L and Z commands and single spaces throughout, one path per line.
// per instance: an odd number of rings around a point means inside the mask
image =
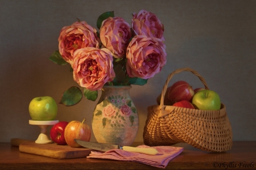
M 169 161 L 175 156 L 179 155 L 183 151 L 183 147 L 174 146 L 155 146 L 150 147 L 146 145 L 138 146 L 141 148 L 155 148 L 158 150 L 156 155 L 140 154 L 135 152 L 129 152 L 119 149 L 109 150 L 106 152 L 92 151 L 86 158 L 98 158 L 98 159 L 112 159 L 129 162 L 139 162 L 148 164 L 153 167 L 165 168 Z

